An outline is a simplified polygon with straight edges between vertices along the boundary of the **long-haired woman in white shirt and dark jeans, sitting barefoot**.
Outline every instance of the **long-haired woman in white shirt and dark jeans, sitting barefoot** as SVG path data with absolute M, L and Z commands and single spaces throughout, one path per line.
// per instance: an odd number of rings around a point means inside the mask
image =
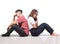
M 54 33 L 54 30 L 47 23 L 42 23 L 38 26 L 37 15 L 38 11 L 36 9 L 33 9 L 28 16 L 28 23 L 31 35 L 38 36 L 44 31 L 44 29 L 46 29 L 50 33 L 50 35 L 57 36 L 57 34 Z

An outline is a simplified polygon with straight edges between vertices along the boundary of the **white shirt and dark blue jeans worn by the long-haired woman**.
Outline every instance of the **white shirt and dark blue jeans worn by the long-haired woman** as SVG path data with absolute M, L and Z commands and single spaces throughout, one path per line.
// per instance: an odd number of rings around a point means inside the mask
M 32 24 L 34 24 L 35 22 L 36 21 L 34 21 L 32 17 L 28 18 L 29 29 L 32 36 L 40 35 L 44 31 L 44 29 L 46 29 L 50 34 L 53 33 L 54 30 L 47 23 L 42 23 L 37 28 L 33 28 Z

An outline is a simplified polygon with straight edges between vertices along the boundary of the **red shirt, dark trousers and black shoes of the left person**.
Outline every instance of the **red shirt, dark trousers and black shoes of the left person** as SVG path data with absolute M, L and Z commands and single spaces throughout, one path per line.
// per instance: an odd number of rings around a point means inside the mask
M 6 34 L 3 34 L 2 36 L 9 36 L 13 30 L 15 30 L 20 36 L 28 36 L 29 35 L 29 26 L 28 22 L 25 19 L 24 16 L 19 16 L 17 18 L 18 24 L 13 25 L 11 28 L 8 28 L 8 31 Z

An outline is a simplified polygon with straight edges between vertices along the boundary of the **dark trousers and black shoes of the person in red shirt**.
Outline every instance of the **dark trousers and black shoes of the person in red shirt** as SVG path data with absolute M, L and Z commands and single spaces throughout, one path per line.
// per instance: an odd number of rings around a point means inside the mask
M 6 32 L 6 34 L 3 34 L 3 36 L 7 36 L 10 35 L 13 31 L 16 31 L 20 36 L 28 36 L 24 29 L 20 28 L 17 24 L 13 25 L 10 29 L 8 28 L 8 31 Z

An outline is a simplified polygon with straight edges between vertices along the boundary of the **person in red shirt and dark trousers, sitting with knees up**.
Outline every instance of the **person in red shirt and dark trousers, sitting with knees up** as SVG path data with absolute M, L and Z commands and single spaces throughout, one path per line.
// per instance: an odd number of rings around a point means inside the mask
M 7 32 L 2 34 L 2 36 L 10 36 L 10 34 L 15 30 L 20 36 L 29 35 L 28 22 L 22 15 L 22 10 L 16 10 L 13 18 L 13 22 L 8 26 Z M 17 16 L 17 19 L 15 17 Z

